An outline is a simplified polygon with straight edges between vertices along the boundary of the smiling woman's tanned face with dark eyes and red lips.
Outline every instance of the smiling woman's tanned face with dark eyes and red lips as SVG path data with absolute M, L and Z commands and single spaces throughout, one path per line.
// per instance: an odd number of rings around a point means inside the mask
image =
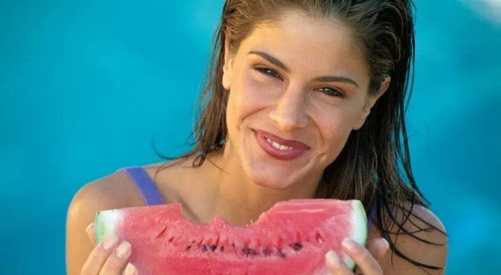
M 316 184 L 363 125 L 382 93 L 368 96 L 354 45 L 345 26 L 288 12 L 258 25 L 237 52 L 226 48 L 226 146 L 255 184 Z

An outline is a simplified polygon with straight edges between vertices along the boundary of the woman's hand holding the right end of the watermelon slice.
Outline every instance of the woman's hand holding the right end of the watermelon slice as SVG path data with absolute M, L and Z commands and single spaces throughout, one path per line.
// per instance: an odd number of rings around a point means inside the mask
M 383 275 L 383 270 L 376 260 L 383 258 L 390 249 L 390 245 L 385 239 L 374 239 L 367 243 L 367 248 L 354 241 L 345 240 L 343 241 L 343 249 L 358 266 L 357 270 L 361 273 L 357 272 L 356 274 Z M 339 256 L 335 252 L 327 252 L 326 261 L 332 275 L 354 275 L 339 260 Z

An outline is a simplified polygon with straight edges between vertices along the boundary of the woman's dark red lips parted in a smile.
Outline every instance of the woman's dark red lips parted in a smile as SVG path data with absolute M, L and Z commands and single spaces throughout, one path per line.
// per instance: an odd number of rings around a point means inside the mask
M 304 144 L 303 142 L 298 142 L 297 140 L 284 140 L 277 135 L 273 135 L 271 133 L 267 133 L 264 131 L 255 131 L 256 139 L 261 148 L 271 157 L 280 160 L 290 160 L 295 159 L 303 153 L 306 153 L 310 149 L 310 146 Z M 288 146 L 290 149 L 288 150 L 279 150 L 275 148 L 273 145 L 268 142 L 268 140 L 272 140 L 273 142 L 277 142 L 278 144 Z

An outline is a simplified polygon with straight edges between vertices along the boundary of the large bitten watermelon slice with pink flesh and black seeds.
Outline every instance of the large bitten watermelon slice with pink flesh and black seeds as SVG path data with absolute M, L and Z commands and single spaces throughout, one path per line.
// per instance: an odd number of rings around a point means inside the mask
M 96 240 L 114 234 L 131 243 L 140 275 L 323 275 L 334 250 L 350 268 L 341 241 L 365 245 L 361 201 L 295 199 L 275 204 L 247 226 L 221 218 L 192 223 L 178 204 L 106 210 L 96 216 Z

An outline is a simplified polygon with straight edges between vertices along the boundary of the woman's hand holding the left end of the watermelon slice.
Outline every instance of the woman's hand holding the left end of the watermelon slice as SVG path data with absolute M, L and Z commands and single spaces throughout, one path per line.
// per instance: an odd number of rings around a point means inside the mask
M 94 239 L 94 223 L 87 229 L 92 243 Z M 103 242 L 98 243 L 89 254 L 87 261 L 82 267 L 82 275 L 138 275 L 136 268 L 127 264 L 131 256 L 131 245 L 127 241 L 118 243 L 116 236 L 108 236 Z

